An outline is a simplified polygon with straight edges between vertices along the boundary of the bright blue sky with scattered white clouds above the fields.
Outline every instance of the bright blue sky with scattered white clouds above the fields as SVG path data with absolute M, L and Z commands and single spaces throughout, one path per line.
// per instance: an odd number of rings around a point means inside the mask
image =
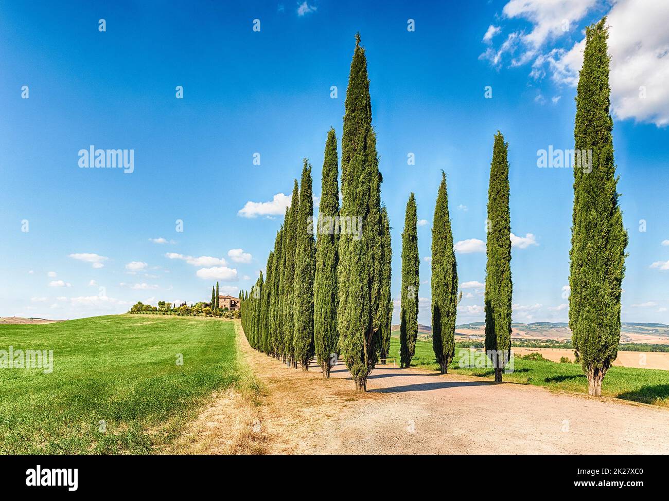
M 481 251 L 500 130 L 518 237 L 514 321 L 565 321 L 573 172 L 538 168 L 537 151 L 573 148 L 583 27 L 608 14 L 630 234 L 622 317 L 669 323 L 669 38 L 658 22 L 669 13 L 666 2 L 640 9 L 639 1 L 5 1 L 0 315 L 64 319 L 136 301 L 195 303 L 217 277 L 221 291 L 249 289 L 303 157 L 320 194 L 324 142 L 330 126 L 341 138 L 359 31 L 393 227 L 393 297 L 407 198 L 415 193 L 425 220 L 419 251 L 429 257 L 443 169 L 466 295 L 458 323 L 483 319 Z M 78 152 L 90 145 L 134 150 L 133 172 L 80 168 Z M 419 321 L 429 324 L 425 259 L 419 297 Z

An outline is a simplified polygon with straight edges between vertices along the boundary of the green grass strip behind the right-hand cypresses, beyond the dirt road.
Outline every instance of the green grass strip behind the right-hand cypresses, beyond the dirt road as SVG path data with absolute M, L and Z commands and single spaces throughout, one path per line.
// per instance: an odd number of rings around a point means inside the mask
M 395 337 L 397 335 L 397 337 Z M 492 367 L 461 369 L 460 359 L 469 349 L 456 348 L 456 356 L 448 367 L 449 373 L 467 374 L 494 379 Z M 399 367 L 399 331 L 393 331 L 390 357 L 397 358 Z M 478 354 L 477 357 L 485 355 Z M 434 357 L 432 341 L 416 341 L 411 367 L 439 370 Z M 580 364 L 514 358 L 514 371 L 502 375 L 502 381 L 544 386 L 556 391 L 587 393 L 587 378 Z M 601 385 L 602 395 L 669 407 L 669 371 L 661 369 L 633 369 L 611 367 Z

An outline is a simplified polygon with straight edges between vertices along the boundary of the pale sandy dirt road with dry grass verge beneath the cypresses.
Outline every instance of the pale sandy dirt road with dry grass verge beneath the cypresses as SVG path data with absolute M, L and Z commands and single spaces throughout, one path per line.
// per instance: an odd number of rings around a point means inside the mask
M 323 380 L 315 365 L 290 369 L 254 351 L 243 334 L 238 338 L 266 388 L 263 405 L 244 410 L 258 452 L 669 454 L 667 409 L 392 366 L 378 366 L 368 393 L 359 394 L 344 365 Z M 218 406 L 226 413 L 212 411 L 216 405 L 201 420 L 209 430 L 230 428 L 229 401 Z

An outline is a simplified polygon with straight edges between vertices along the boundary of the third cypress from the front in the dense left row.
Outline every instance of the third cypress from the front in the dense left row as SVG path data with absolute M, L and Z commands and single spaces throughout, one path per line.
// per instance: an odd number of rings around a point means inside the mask
M 316 242 L 314 241 L 314 198 L 311 166 L 304 159 L 300 179 L 300 206 L 298 209 L 295 251 L 295 360 L 302 370 L 309 369 L 314 357 L 314 274 L 316 272 Z

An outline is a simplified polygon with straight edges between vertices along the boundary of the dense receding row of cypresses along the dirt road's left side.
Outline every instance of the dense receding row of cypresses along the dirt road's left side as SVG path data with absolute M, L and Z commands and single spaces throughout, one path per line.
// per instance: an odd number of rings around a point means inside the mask
M 290 207 L 276 234 L 265 279 L 240 295 L 242 326 L 252 347 L 292 367 L 314 354 L 323 377 L 341 355 L 356 388 L 390 348 L 391 240 L 381 204 L 379 160 L 371 124 L 367 57 L 356 35 L 345 103 L 339 168 L 337 137 L 328 132 L 318 220 L 311 166 L 304 160 Z M 314 233 L 316 240 L 314 241 Z

